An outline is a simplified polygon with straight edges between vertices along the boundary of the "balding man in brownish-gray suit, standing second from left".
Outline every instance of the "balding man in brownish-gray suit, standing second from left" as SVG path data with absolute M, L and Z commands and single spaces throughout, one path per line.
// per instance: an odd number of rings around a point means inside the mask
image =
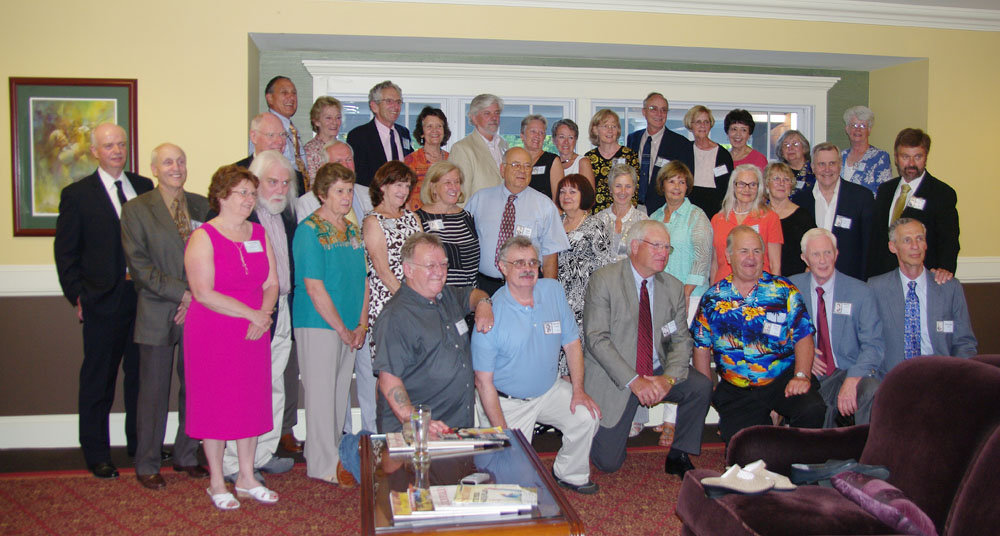
M 184 246 L 208 213 L 208 200 L 184 191 L 187 157 L 180 147 L 164 143 L 153 149 L 155 189 L 122 207 L 122 248 L 139 294 L 135 342 L 139 346 L 138 446 L 135 476 L 149 489 L 166 486 L 160 476 L 160 451 L 166 434 L 177 349 L 178 426 L 174 439 L 174 471 L 205 478 L 198 465 L 198 440 L 184 432 L 184 316 L 191 304 L 184 275 Z

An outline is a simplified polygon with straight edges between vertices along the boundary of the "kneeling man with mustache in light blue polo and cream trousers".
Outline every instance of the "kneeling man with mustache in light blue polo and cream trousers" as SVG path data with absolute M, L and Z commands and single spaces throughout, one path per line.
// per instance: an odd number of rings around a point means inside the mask
M 472 335 L 479 422 L 517 428 L 529 442 L 535 423 L 558 428 L 563 438 L 552 466 L 556 482 L 577 493 L 596 493 L 588 454 L 601 410 L 583 388 L 576 317 L 562 285 L 538 279 L 541 261 L 531 239 L 510 238 L 499 259 L 507 284 L 494 294 L 496 324 L 489 333 Z M 558 374 L 560 348 L 566 352 L 570 381 Z

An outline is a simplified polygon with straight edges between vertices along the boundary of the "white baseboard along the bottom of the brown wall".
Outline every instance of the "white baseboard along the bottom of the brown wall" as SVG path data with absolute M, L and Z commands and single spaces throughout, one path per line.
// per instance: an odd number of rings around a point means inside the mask
M 663 422 L 663 408 L 660 404 L 649 411 L 649 425 Z M 709 408 L 705 424 L 718 424 L 719 415 Z M 354 433 L 361 430 L 361 410 L 351 408 L 351 428 Z M 125 414 L 111 414 L 111 446 L 125 446 Z M 295 425 L 295 437 L 306 438 L 306 412 L 299 410 L 299 423 Z M 168 442 L 177 433 L 177 412 L 167 416 Z M 3 449 L 57 449 L 80 446 L 76 414 L 66 415 L 21 415 L 0 417 L 0 450 Z

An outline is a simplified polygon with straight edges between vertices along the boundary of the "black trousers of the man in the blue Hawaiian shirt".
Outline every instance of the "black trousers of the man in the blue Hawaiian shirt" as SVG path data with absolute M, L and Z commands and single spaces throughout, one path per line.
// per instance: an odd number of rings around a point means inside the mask
M 761 387 L 737 387 L 725 380 L 719 381 L 712 395 L 712 405 L 719 412 L 719 432 L 727 444 L 744 428 L 758 424 L 771 424 L 771 411 L 777 411 L 797 428 L 822 428 L 826 416 L 826 403 L 819 394 L 819 380 L 810 375 L 809 390 L 805 394 L 785 398 L 785 386 L 795 373 L 794 367 Z

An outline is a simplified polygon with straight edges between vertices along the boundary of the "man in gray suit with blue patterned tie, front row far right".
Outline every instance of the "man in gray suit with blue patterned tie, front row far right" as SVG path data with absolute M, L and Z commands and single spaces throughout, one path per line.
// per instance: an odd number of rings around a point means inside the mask
M 957 279 L 934 281 L 924 268 L 927 229 L 919 220 L 899 218 L 889 226 L 889 251 L 899 268 L 868 280 L 875 291 L 889 372 L 918 355 L 976 355 L 965 292 Z

